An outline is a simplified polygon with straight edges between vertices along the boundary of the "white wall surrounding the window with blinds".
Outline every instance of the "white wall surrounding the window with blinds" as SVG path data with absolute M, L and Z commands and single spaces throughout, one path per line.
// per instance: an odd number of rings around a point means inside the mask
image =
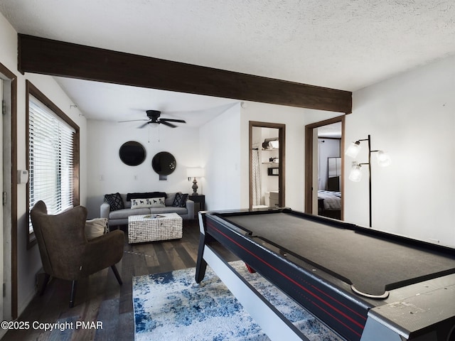
M 30 80 L 55 105 L 80 126 L 80 198 L 85 205 L 87 168 L 85 166 L 85 119 L 78 109 L 70 109 L 68 96 L 60 89 L 53 77 L 45 75 L 21 75 L 17 70 L 17 33 L 0 14 L 0 63 L 17 77 L 17 166 L 26 169 L 26 80 Z M 20 314 L 35 295 L 35 275 L 41 269 L 38 246 L 26 249 L 28 222 L 26 219 L 26 185 L 17 185 L 17 262 L 18 262 L 18 313 Z

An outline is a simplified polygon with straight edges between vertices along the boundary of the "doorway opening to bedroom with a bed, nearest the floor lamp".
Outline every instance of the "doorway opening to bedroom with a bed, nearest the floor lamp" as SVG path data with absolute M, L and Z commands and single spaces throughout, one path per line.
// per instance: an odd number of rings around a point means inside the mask
M 344 125 L 343 115 L 305 126 L 305 212 L 311 215 L 343 220 Z

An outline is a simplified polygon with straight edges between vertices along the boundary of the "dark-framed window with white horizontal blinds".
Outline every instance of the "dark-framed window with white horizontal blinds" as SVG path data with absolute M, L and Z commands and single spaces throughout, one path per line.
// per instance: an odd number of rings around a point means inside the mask
M 30 82 L 28 89 L 28 212 L 43 200 L 55 215 L 79 204 L 78 127 Z M 28 244 L 33 241 L 28 217 Z

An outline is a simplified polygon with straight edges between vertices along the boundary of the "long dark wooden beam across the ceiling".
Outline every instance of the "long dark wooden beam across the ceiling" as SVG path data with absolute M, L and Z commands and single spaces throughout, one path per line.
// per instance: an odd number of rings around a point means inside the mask
M 18 70 L 350 113 L 352 93 L 18 34 Z

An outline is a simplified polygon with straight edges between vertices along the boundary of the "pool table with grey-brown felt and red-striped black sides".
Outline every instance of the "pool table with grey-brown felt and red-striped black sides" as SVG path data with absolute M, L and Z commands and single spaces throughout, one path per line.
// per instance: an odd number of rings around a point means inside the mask
M 222 244 L 346 340 L 454 340 L 455 250 L 290 209 L 200 212 L 207 264 L 276 340 L 307 340 L 235 273 Z

